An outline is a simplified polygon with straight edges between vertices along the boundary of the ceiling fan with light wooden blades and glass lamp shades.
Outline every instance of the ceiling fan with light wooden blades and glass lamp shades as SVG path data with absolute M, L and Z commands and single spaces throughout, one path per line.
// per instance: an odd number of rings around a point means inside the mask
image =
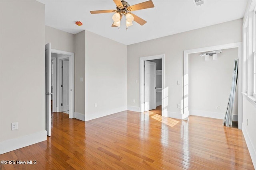
M 122 20 L 123 16 L 126 16 L 126 29 L 127 27 L 132 25 L 132 21 L 137 22 L 140 25 L 144 25 L 147 21 L 143 20 L 142 18 L 132 14 L 131 11 L 142 10 L 146 8 L 154 8 L 154 4 L 152 0 L 142 2 L 140 4 L 135 4 L 130 6 L 128 2 L 124 0 L 113 0 L 116 4 L 116 10 L 98 10 L 98 11 L 90 11 L 91 14 L 101 14 L 101 13 L 110 13 L 114 12 L 114 16 L 112 19 L 114 23 L 112 27 L 120 27 L 120 21 Z

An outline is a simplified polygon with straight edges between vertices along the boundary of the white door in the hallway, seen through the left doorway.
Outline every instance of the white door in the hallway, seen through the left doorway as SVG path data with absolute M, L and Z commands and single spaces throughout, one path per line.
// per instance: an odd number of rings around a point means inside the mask
M 69 61 L 62 61 L 62 111 L 69 110 Z

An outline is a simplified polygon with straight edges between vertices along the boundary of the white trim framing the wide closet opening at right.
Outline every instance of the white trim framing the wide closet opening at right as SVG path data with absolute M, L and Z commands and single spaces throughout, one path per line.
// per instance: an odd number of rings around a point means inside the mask
M 242 129 L 243 104 L 242 104 L 242 42 L 203 47 L 198 49 L 184 50 L 184 72 L 183 72 L 183 113 L 188 113 L 188 54 L 214 51 L 218 49 L 238 48 L 238 129 Z

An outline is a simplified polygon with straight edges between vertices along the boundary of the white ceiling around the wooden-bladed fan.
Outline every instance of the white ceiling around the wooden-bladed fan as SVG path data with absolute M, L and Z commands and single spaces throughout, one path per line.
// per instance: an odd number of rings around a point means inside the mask
M 125 45 L 243 18 L 247 4 L 247 0 L 204 0 L 196 7 L 193 0 L 152 0 L 154 8 L 133 12 L 147 23 L 133 21 L 126 30 L 125 20 L 120 29 L 111 27 L 114 13 L 90 14 L 91 10 L 115 10 L 113 0 L 38 1 L 45 4 L 45 25 L 72 34 L 86 29 Z M 127 0 L 130 6 L 145 1 Z

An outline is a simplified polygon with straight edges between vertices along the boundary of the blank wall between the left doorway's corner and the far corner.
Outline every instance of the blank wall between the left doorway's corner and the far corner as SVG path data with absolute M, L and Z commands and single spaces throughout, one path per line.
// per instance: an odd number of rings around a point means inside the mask
M 90 31 L 85 44 L 85 119 L 126 110 L 126 45 Z

